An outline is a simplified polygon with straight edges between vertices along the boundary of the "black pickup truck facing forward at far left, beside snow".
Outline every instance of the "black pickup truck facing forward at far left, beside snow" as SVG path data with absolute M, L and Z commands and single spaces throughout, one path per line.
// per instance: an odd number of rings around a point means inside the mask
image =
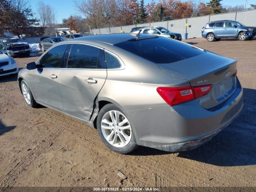
M 29 56 L 31 48 L 28 43 L 23 42 L 18 38 L 3 38 L 0 39 L 0 50 L 9 56 L 26 55 Z

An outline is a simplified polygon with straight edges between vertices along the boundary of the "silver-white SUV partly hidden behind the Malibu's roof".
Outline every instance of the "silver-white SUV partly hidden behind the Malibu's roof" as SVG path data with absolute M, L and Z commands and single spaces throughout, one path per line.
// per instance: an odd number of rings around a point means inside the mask
M 176 39 L 176 40 L 180 40 L 180 41 L 182 39 L 181 34 L 170 32 L 168 29 L 166 29 L 164 27 L 158 27 L 158 26 L 143 27 L 143 28 L 139 28 L 137 31 L 139 31 L 139 30 L 141 30 L 140 33 L 142 33 L 142 34 L 152 34 L 152 35 L 172 38 L 172 39 Z M 133 31 L 133 32 L 136 32 L 136 31 Z

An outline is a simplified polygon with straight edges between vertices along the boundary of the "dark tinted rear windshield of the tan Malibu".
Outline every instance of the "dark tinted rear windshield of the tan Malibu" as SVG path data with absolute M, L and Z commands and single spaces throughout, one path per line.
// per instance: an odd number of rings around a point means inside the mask
M 203 54 L 204 51 L 176 40 L 158 37 L 114 44 L 155 63 L 173 63 Z

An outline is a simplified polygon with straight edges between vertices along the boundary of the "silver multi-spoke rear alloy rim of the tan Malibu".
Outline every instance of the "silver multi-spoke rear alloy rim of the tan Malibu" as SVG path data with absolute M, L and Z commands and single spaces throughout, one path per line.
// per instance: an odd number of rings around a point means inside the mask
M 132 127 L 124 114 L 112 110 L 104 114 L 101 121 L 104 138 L 115 147 L 126 146 L 132 138 Z

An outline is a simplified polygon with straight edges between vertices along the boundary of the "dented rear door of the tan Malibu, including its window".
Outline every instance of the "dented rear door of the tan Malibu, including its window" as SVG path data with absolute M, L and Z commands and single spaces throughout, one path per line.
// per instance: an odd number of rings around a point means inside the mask
M 95 98 L 107 77 L 104 51 L 86 44 L 72 44 L 67 68 L 60 74 L 59 88 L 67 114 L 89 121 Z

